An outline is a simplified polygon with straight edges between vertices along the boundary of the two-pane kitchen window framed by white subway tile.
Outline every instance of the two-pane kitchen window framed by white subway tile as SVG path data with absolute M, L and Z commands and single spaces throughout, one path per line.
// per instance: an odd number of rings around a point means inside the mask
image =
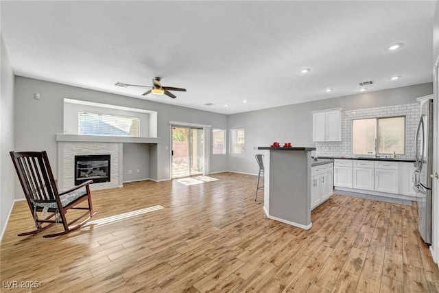
M 352 121 L 353 154 L 405 154 L 405 117 Z

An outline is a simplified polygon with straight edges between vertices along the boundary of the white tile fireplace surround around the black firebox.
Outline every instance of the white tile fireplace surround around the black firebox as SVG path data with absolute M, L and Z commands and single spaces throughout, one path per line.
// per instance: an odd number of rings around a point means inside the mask
M 67 189 L 75 185 L 75 156 L 110 154 L 110 181 L 90 185 L 91 190 L 121 187 L 119 165 L 122 143 L 58 141 L 58 185 Z

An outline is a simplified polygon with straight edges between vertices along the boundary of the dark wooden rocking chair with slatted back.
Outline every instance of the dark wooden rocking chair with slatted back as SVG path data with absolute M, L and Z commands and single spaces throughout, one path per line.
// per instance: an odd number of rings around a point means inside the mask
M 88 180 L 66 191 L 58 191 L 45 151 L 10 152 L 10 155 L 36 226 L 36 230 L 20 233 L 19 236 L 34 235 L 58 223 L 63 225 L 64 231 L 43 237 L 64 235 L 80 228 L 96 214 L 93 213 L 89 187 L 93 180 Z M 88 201 L 88 207 L 77 207 L 84 200 Z M 75 220 L 67 222 L 66 213 L 69 209 L 82 209 L 86 212 Z M 41 219 L 38 218 L 38 213 L 43 215 Z M 71 226 L 86 216 L 85 220 Z

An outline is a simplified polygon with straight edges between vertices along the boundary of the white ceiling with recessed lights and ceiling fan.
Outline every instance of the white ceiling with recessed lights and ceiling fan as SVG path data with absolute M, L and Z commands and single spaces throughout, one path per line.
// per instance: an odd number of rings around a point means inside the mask
M 431 82 L 435 5 L 1 1 L 1 34 L 16 75 L 232 114 L 353 95 L 368 80 L 368 91 Z M 386 51 L 392 43 L 404 45 Z M 154 76 L 187 92 L 115 86 Z

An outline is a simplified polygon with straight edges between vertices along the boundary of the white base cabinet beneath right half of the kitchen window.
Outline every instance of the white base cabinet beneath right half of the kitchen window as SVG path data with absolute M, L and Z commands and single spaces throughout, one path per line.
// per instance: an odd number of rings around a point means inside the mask
M 375 191 L 398 194 L 398 162 L 375 161 Z

